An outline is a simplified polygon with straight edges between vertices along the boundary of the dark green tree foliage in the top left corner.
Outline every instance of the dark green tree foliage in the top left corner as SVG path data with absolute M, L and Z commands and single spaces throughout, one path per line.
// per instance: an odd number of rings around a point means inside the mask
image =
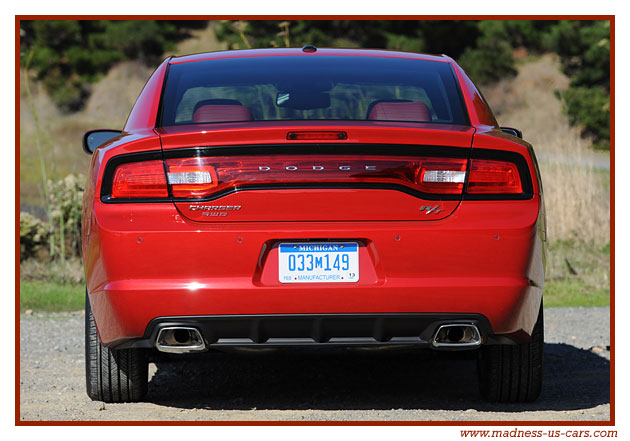
M 97 81 L 115 64 L 155 64 L 166 50 L 207 22 L 168 20 L 34 20 L 20 22 L 21 64 L 35 71 L 64 111 L 81 109 Z

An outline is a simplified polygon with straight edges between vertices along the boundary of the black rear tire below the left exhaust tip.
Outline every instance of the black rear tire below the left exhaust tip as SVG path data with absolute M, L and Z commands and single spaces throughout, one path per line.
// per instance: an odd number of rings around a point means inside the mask
M 85 295 L 85 380 L 94 401 L 139 401 L 147 393 L 149 363 L 146 350 L 109 349 L 101 344 Z

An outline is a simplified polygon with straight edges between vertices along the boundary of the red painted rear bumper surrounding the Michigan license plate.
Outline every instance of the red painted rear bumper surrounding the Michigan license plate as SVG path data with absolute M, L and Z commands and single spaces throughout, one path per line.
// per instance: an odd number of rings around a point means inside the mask
M 524 341 L 544 280 L 538 204 L 469 201 L 439 221 L 223 224 L 168 204 L 97 204 L 84 248 L 90 302 L 109 346 L 172 317 L 291 314 L 474 314 L 488 336 Z M 279 283 L 274 244 L 306 239 L 359 241 L 359 283 Z

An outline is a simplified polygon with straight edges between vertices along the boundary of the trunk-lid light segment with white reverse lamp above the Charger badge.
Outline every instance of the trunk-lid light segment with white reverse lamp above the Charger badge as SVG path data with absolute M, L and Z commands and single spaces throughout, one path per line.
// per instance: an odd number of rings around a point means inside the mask
M 217 187 L 219 180 L 211 158 L 183 158 L 166 161 L 168 183 L 173 197 L 202 198 Z

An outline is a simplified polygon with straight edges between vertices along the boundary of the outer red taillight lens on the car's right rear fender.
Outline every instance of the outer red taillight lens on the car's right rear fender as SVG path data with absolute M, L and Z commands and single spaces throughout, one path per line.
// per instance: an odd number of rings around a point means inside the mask
M 473 159 L 468 190 L 470 194 L 519 194 L 523 192 L 518 167 L 512 162 Z

